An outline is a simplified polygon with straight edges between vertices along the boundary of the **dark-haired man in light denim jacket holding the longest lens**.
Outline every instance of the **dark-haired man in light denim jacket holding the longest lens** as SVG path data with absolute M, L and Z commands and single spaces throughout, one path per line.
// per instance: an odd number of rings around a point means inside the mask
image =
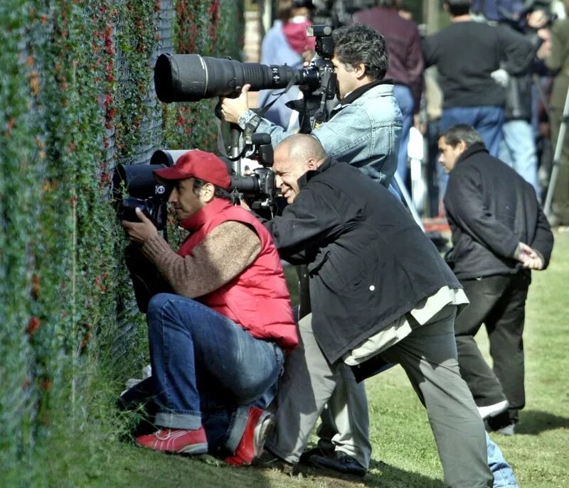
M 360 168 L 388 186 L 397 167 L 403 118 L 393 96 L 393 83 L 383 80 L 388 68 L 385 39 L 373 28 L 358 23 L 336 29 L 332 37 L 340 102 L 312 136 L 329 156 Z M 249 85 L 245 85 L 240 97 L 222 100 L 223 118 L 241 129 L 270 134 L 273 147 L 277 146 L 290 133 L 249 109 L 248 90 Z

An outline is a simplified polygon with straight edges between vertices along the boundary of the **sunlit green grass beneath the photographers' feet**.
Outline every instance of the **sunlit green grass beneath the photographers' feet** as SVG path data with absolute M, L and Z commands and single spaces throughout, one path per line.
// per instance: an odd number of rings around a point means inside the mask
M 516 435 L 491 435 L 523 488 L 569 487 L 569 233 L 556 234 L 555 239 L 551 266 L 533 274 L 526 308 L 527 406 Z M 478 339 L 486 351 L 484 337 Z M 53 445 L 53 462 L 38 478 L 38 486 L 442 487 L 427 417 L 403 370 L 393 368 L 367 380 L 366 386 L 373 455 L 363 479 L 328 477 L 315 470 L 289 477 L 275 470 L 229 467 L 211 457 L 141 450 L 117 440 L 102 408 L 83 429 L 78 445 Z M 111 392 L 107 393 L 110 401 Z M 102 404 L 107 393 L 101 393 Z

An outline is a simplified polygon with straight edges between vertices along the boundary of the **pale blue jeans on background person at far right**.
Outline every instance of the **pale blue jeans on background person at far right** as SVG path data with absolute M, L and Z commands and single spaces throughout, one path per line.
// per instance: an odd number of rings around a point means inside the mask
M 538 185 L 538 155 L 531 124 L 526 120 L 509 120 L 502 126 L 499 158 L 514 168 L 541 200 Z

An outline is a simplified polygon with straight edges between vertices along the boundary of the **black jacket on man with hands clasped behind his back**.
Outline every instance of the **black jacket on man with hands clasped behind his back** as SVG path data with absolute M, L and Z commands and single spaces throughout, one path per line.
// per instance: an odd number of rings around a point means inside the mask
M 482 144 L 457 159 L 444 198 L 453 248 L 447 254 L 459 279 L 516 273 L 519 242 L 543 256 L 547 267 L 553 234 L 533 187 Z

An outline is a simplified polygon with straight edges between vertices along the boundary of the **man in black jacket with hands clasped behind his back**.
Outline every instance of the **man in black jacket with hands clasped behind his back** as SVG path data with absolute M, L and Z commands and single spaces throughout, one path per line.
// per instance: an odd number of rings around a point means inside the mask
M 490 156 L 471 126 L 447 129 L 439 149 L 450 173 L 443 199 L 453 244 L 447 262 L 470 301 L 454 323 L 460 372 L 482 418 L 511 434 L 525 404 L 522 332 L 530 270 L 548 266 L 553 234 L 533 187 Z M 494 370 L 474 342 L 482 323 Z

